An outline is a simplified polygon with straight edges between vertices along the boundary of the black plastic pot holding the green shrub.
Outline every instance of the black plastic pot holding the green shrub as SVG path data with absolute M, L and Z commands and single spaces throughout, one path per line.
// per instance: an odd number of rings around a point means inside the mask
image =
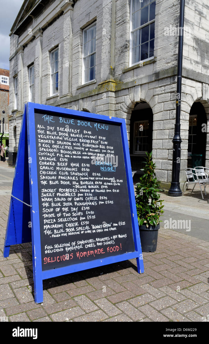
M 160 224 L 147 228 L 146 225 L 139 226 L 142 252 L 155 252 L 158 243 L 158 229 Z

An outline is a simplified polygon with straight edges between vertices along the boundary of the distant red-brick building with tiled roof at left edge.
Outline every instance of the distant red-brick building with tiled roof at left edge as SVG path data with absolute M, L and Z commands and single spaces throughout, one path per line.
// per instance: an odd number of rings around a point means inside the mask
M 4 135 L 3 131 L 4 118 Z M 9 71 L 8 69 L 0 68 L 0 137 L 2 136 L 2 143 L 4 147 L 9 146 Z

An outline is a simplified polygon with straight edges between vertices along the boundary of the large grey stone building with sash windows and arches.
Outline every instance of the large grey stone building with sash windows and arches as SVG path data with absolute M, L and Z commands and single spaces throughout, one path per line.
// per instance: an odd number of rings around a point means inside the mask
M 170 183 L 180 0 L 25 0 L 10 33 L 10 135 L 24 103 L 125 118 L 132 169 L 153 151 Z M 185 0 L 181 172 L 209 167 L 209 4 Z M 143 130 L 142 130 L 143 129 Z

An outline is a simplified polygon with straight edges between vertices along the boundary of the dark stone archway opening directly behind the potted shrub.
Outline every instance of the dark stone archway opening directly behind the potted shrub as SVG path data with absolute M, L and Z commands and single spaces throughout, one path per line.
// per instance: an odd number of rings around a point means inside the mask
M 130 118 L 130 160 L 132 171 L 142 174 L 146 152 L 152 151 L 153 113 L 148 103 L 136 103 Z

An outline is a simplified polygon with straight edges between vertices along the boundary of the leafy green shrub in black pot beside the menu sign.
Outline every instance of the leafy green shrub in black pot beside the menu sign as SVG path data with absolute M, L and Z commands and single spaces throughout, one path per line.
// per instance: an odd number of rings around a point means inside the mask
M 141 248 L 143 252 L 154 252 L 157 248 L 159 218 L 163 213 L 163 200 L 160 200 L 159 182 L 155 177 L 155 164 L 152 161 L 152 152 L 146 153 L 147 158 L 143 176 L 136 188 L 136 207 L 139 223 Z

